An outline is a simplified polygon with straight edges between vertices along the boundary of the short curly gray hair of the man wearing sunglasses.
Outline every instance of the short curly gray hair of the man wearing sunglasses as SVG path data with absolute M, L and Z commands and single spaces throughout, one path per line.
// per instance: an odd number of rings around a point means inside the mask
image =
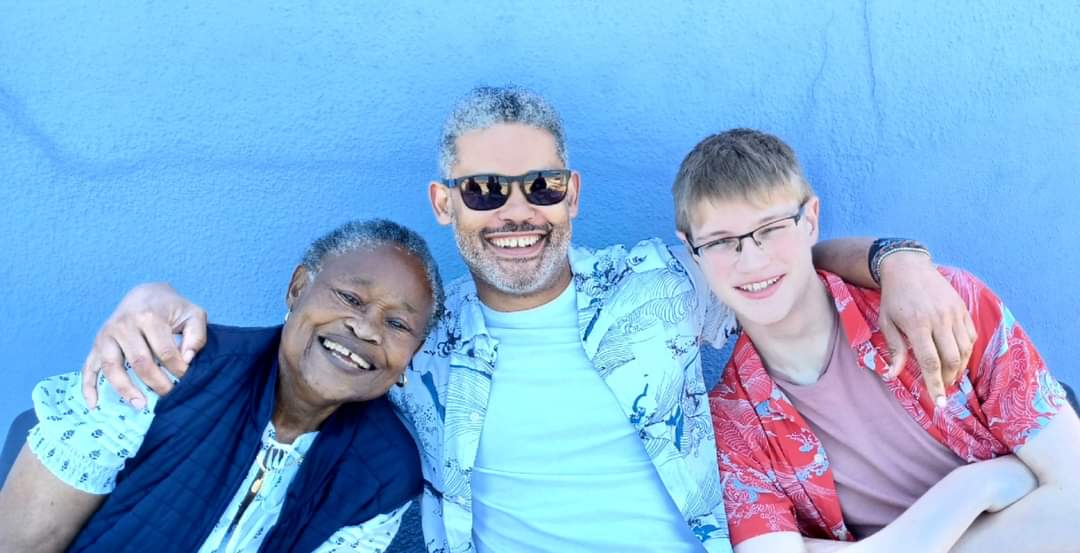
M 477 86 L 458 100 L 443 124 L 438 140 L 438 170 L 443 178 L 449 178 L 450 168 L 458 162 L 458 138 L 498 123 L 519 123 L 548 131 L 555 138 L 558 159 L 566 165 L 563 119 L 543 96 L 513 84 Z

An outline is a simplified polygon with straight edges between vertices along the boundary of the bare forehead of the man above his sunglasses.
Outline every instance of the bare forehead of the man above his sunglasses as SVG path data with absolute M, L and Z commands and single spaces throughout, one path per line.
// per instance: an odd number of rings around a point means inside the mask
M 457 138 L 457 160 L 450 176 L 521 175 L 564 165 L 550 132 L 519 123 L 497 123 Z

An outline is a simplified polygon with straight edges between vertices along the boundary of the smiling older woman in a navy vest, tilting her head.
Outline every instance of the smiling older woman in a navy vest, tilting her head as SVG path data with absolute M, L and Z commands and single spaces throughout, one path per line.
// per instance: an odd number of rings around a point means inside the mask
M 77 373 L 46 379 L 0 493 L 0 550 L 383 550 L 420 491 L 384 394 L 442 297 L 420 237 L 352 222 L 309 247 L 284 326 L 211 326 L 172 393 L 143 389 L 146 408 L 100 379 L 87 409 Z

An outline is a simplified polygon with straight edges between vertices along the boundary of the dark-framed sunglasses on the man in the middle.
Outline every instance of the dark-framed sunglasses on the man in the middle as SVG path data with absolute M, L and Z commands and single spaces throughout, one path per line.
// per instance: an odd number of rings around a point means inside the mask
M 554 205 L 566 198 L 570 170 L 530 171 L 524 175 L 469 175 L 444 178 L 443 184 L 461 190 L 461 200 L 470 210 L 486 212 L 502 207 L 510 199 L 510 187 L 521 184 L 522 193 L 532 205 Z

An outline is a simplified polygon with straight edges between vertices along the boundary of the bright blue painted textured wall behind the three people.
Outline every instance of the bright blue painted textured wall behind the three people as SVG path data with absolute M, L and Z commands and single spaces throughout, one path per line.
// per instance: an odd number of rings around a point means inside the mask
M 673 239 L 683 154 L 769 130 L 826 234 L 926 241 L 1080 382 L 1078 25 L 1075 0 L 0 0 L 0 423 L 140 281 L 273 323 L 305 244 L 375 215 L 460 274 L 426 203 L 437 129 L 508 81 L 564 113 L 579 242 Z

